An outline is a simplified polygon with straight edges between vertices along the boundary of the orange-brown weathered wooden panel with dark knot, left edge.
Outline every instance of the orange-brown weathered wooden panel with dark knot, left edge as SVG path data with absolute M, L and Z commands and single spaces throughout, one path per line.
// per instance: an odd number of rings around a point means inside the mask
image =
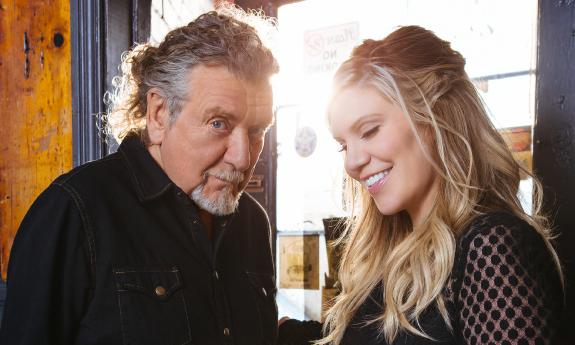
M 0 269 L 37 195 L 72 167 L 69 0 L 0 0 Z

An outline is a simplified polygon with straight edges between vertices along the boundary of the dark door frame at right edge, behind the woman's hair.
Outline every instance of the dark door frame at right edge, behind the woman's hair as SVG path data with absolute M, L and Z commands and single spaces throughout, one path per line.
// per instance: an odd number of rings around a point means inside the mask
M 575 1 L 539 1 L 533 167 L 559 235 L 567 308 L 561 344 L 575 344 Z

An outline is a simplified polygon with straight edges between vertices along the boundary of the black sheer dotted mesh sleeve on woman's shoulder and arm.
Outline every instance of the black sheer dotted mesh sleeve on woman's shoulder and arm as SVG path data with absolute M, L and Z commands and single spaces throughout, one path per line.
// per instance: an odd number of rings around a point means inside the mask
M 554 344 L 563 294 L 540 235 L 506 215 L 472 228 L 463 243 L 456 263 L 463 342 Z

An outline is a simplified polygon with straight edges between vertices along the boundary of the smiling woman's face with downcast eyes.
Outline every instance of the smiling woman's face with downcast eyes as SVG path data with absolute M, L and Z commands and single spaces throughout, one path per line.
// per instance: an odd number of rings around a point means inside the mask
M 345 170 L 379 211 L 406 210 L 418 226 L 433 206 L 439 179 L 401 108 L 375 88 L 348 87 L 334 97 L 329 123 Z

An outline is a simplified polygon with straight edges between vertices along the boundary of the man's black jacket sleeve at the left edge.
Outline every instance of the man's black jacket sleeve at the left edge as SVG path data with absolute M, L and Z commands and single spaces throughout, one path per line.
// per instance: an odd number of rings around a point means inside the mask
M 91 295 L 91 252 L 81 203 L 51 185 L 16 234 L 0 344 L 72 344 Z

